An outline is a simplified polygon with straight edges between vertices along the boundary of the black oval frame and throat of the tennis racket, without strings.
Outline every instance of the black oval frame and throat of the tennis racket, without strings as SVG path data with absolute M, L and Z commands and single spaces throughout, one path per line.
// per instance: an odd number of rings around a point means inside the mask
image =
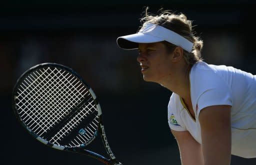
M 96 108 L 97 108 L 97 112 L 98 112 L 98 128 L 97 128 L 97 132 L 99 133 L 99 135 L 101 137 L 101 141 L 103 143 L 105 151 L 106 151 L 106 153 L 107 153 L 107 155 L 108 155 L 108 157 L 110 159 L 106 159 L 105 157 L 103 157 L 103 156 L 101 156 L 101 155 L 99 155 L 97 153 L 94 153 L 94 152 L 91 152 L 91 151 L 85 149 L 85 147 L 88 144 L 90 144 L 96 138 L 96 136 L 97 136 L 96 134 L 86 144 L 81 144 L 78 147 L 64 147 L 64 146 L 59 146 L 59 145 L 56 145 L 56 144 L 52 144 L 51 142 L 48 142 L 48 141 L 42 139 L 41 137 L 39 137 L 38 135 L 33 133 L 25 125 L 25 123 L 22 121 L 22 119 L 20 118 L 20 116 L 19 116 L 19 114 L 17 112 L 16 104 L 15 104 L 17 88 L 18 88 L 20 82 L 23 81 L 23 79 L 26 77 L 27 74 L 31 73 L 32 71 L 34 71 L 36 69 L 42 68 L 42 67 L 57 67 L 57 68 L 60 68 L 60 69 L 64 69 L 64 70 L 70 72 L 72 75 L 76 76 L 88 88 L 88 91 L 91 94 L 91 96 L 92 96 L 92 98 L 93 98 L 93 100 L 95 102 L 95 105 L 96 105 Z M 94 158 L 94 159 L 104 163 L 105 165 L 122 165 L 119 161 L 116 160 L 114 154 L 112 153 L 112 151 L 110 149 L 109 143 L 108 143 L 107 138 L 106 138 L 106 133 L 105 133 L 104 125 L 103 125 L 101 107 L 100 107 L 100 105 L 99 105 L 99 103 L 97 101 L 95 93 L 88 86 L 88 84 L 74 70 L 72 70 L 71 68 L 69 68 L 67 66 L 64 66 L 64 65 L 61 65 L 61 64 L 58 64 L 58 63 L 41 63 L 41 64 L 32 66 L 29 69 L 27 69 L 17 79 L 17 81 L 16 81 L 16 83 L 14 85 L 14 88 L 13 88 L 13 91 L 12 91 L 12 110 L 13 110 L 13 113 L 14 113 L 16 119 L 28 131 L 28 133 L 32 137 L 34 137 L 36 140 L 38 140 L 39 142 L 43 143 L 44 145 L 46 145 L 46 146 L 48 146 L 50 148 L 53 148 L 53 149 L 61 150 L 61 151 L 68 151 L 68 152 L 74 152 L 74 153 L 83 154 L 83 155 L 86 155 L 88 157 Z

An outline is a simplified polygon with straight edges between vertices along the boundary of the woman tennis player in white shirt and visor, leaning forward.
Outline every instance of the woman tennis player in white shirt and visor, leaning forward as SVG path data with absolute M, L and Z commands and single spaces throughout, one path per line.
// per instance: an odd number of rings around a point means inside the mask
M 256 75 L 203 62 L 203 42 L 184 14 L 146 9 L 141 22 L 137 33 L 118 37 L 117 44 L 138 49 L 143 79 L 172 92 L 168 124 L 182 165 L 256 158 Z

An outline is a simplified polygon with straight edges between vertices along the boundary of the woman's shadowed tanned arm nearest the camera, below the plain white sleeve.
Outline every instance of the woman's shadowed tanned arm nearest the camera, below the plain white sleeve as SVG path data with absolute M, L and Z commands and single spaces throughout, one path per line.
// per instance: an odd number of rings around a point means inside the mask
M 202 152 L 205 165 L 229 165 L 231 126 L 229 105 L 203 108 L 199 113 Z

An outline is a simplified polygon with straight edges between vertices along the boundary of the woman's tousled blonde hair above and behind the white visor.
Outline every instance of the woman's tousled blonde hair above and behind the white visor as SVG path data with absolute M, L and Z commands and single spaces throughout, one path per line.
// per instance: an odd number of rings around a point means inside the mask
M 174 14 L 169 10 L 160 9 L 160 14 L 154 15 L 147 12 L 148 7 L 145 9 L 145 14 L 142 18 L 140 18 L 140 22 L 143 23 L 154 23 L 165 27 L 169 30 L 172 30 L 179 35 L 183 36 L 187 40 L 193 43 L 193 48 L 191 52 L 183 51 L 183 56 L 185 61 L 189 65 L 193 65 L 198 61 L 202 61 L 201 58 L 201 49 L 203 46 L 203 41 L 196 37 L 192 32 L 192 21 L 187 20 L 186 16 L 183 13 Z M 166 45 L 168 51 L 173 51 L 176 45 L 169 43 L 167 41 L 163 41 Z

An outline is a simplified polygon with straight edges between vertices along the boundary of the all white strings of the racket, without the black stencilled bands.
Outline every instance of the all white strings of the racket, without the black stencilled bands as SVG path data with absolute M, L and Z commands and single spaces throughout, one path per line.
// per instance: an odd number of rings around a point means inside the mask
M 88 89 L 78 78 L 60 68 L 41 68 L 27 75 L 17 89 L 16 109 L 25 125 L 36 135 L 42 136 L 61 121 L 84 98 L 75 116 L 65 124 L 50 140 L 53 144 L 63 139 L 89 114 L 97 111 Z M 84 128 L 85 135 L 77 135 L 69 146 L 77 146 L 89 141 L 97 130 L 98 116 Z M 43 137 L 42 137 L 43 138 Z

